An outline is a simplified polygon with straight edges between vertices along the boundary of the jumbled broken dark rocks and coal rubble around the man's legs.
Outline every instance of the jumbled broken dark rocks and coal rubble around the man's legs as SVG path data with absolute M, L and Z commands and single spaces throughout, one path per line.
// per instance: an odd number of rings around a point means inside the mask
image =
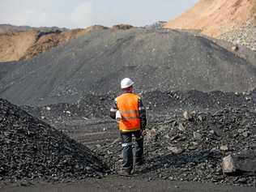
M 118 140 L 95 148 L 120 168 Z M 148 126 L 145 137 L 146 163 L 135 168 L 149 180 L 211 181 L 256 186 L 256 113 L 249 109 L 221 109 L 215 113 L 186 111 L 182 116 Z M 223 169 L 224 157 L 233 156 L 236 166 Z

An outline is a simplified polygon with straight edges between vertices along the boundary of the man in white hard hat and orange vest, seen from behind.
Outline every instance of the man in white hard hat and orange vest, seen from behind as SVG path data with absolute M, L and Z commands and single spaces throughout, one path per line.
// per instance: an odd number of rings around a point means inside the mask
M 146 110 L 141 98 L 133 93 L 134 82 L 125 78 L 121 81 L 122 95 L 117 96 L 110 117 L 117 119 L 122 138 L 123 162 L 120 175 L 130 175 L 133 169 L 132 135 L 135 137 L 135 164 L 143 164 L 143 135 L 147 126 Z

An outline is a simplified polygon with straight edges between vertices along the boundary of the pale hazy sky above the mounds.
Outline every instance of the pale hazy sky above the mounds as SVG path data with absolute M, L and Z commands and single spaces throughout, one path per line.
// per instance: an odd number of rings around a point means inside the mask
M 86 28 L 169 20 L 198 0 L 0 0 L 0 23 Z

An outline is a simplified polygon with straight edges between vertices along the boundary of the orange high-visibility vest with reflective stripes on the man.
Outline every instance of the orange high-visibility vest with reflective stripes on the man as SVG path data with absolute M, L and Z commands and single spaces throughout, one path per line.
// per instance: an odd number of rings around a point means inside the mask
M 117 97 L 117 109 L 122 115 L 119 130 L 123 132 L 140 130 L 139 99 L 134 93 L 124 93 Z

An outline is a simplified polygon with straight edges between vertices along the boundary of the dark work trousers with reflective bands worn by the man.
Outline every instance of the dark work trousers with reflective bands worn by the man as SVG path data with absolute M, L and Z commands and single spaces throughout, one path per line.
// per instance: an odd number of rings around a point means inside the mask
M 132 135 L 135 137 L 135 163 L 143 161 L 143 136 L 141 130 L 134 132 L 121 132 L 122 138 L 122 169 L 131 171 L 133 169 Z

